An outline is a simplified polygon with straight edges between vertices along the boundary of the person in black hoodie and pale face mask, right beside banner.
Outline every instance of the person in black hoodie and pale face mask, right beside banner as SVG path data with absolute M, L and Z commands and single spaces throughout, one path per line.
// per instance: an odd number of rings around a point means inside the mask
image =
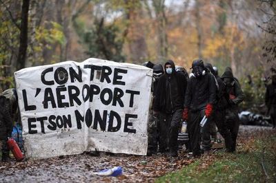
M 159 78 L 155 90 L 153 109 L 159 118 L 159 152 L 169 148 L 170 155 L 176 157 L 187 80 L 184 74 L 176 72 L 173 61 L 168 60 L 164 67 L 165 74 Z

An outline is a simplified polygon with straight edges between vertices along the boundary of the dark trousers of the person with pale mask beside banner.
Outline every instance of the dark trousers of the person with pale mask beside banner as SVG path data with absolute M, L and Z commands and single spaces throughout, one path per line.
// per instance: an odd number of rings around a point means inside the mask
M 159 151 L 164 152 L 168 148 L 177 151 L 177 137 L 181 126 L 182 109 L 177 109 L 172 114 L 159 114 Z

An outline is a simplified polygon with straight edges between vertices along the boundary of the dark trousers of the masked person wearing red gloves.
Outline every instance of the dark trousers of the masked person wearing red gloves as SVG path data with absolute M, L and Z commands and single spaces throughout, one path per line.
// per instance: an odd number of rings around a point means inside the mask
M 188 135 L 190 140 L 190 148 L 193 155 L 200 155 L 201 133 L 199 122 L 204 117 L 204 110 L 190 111 L 188 114 Z

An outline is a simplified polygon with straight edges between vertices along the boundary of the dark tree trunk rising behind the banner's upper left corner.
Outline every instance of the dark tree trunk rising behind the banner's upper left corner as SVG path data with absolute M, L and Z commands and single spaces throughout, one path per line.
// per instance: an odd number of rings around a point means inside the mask
M 23 0 L 21 10 L 21 29 L 20 29 L 20 43 L 19 54 L 17 58 L 17 70 L 25 67 L 26 54 L 28 47 L 28 12 L 30 7 L 30 0 Z

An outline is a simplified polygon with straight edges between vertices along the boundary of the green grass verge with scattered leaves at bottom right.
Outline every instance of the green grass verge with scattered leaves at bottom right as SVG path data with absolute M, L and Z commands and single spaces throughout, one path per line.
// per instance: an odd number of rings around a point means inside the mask
M 238 153 L 217 152 L 200 158 L 180 171 L 159 177 L 156 182 L 276 182 L 276 137 L 255 139 Z M 264 166 L 269 179 L 261 165 L 264 147 Z

